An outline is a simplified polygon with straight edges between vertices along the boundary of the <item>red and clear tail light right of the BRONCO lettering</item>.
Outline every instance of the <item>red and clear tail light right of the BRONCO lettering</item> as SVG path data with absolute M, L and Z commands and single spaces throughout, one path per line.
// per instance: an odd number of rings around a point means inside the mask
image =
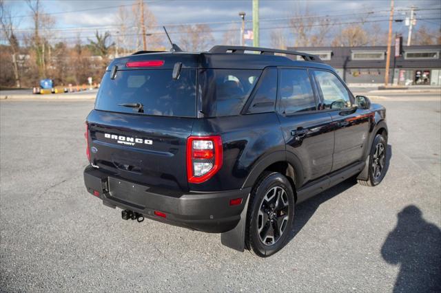
M 187 178 L 189 183 L 202 183 L 222 166 L 220 136 L 190 136 L 187 138 Z

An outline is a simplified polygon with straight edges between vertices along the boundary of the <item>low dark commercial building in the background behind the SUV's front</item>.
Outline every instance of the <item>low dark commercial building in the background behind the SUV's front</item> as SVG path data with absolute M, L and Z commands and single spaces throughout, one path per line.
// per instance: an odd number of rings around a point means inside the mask
M 320 56 L 346 83 L 383 84 L 386 46 L 289 47 L 288 50 Z M 391 47 L 389 83 L 394 85 L 441 85 L 441 45 L 404 46 L 395 57 Z M 300 57 L 299 57 L 300 58 Z

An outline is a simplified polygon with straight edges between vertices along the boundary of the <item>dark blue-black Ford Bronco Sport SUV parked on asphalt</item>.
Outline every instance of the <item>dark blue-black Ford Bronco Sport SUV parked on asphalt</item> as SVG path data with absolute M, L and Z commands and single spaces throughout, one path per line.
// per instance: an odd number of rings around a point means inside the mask
M 267 257 L 289 240 L 299 202 L 353 176 L 381 182 L 385 114 L 314 55 L 139 52 L 103 76 L 85 186 L 123 219 L 222 233 Z

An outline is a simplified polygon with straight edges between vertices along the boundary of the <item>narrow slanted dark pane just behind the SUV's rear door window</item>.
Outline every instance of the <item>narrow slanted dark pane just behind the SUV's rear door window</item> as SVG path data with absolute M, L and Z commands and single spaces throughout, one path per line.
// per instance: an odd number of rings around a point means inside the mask
M 245 113 L 273 112 L 276 105 L 277 69 L 267 68 L 260 77 L 254 97 Z

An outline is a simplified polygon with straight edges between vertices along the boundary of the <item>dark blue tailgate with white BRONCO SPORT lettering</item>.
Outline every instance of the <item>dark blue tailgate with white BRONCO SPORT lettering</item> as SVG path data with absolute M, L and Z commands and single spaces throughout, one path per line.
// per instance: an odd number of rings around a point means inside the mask
M 186 143 L 193 121 L 93 110 L 90 159 L 126 180 L 187 191 Z

